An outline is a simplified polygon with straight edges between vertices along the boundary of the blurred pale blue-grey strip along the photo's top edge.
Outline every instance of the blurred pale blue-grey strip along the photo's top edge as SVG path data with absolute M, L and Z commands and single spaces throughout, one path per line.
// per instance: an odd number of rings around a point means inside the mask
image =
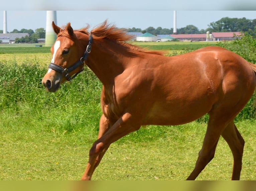
M 5 10 L 256 10 L 255 0 L 8 0 Z M 6 9 L 7 8 L 7 9 Z

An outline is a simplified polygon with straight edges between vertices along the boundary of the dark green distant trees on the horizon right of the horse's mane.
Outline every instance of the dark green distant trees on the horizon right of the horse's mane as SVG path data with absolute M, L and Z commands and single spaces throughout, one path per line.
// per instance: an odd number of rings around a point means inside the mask
M 223 17 L 216 22 L 212 22 L 208 25 L 208 28 L 199 30 L 194 25 L 187 25 L 185 27 L 177 29 L 177 34 L 205 34 L 207 31 L 212 32 L 248 32 L 254 30 L 256 27 L 256 19 L 244 18 L 229 18 Z M 142 32 L 150 33 L 153 35 L 169 35 L 173 34 L 173 28 L 166 29 L 157 27 L 148 27 L 145 30 L 140 28 L 129 28 L 128 32 Z

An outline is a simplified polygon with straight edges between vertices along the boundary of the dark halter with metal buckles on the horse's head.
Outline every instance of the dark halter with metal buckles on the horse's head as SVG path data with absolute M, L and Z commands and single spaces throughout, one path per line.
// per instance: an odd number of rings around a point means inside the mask
M 72 71 L 76 70 L 78 67 L 80 67 L 82 64 L 85 63 L 85 61 L 87 60 L 87 57 L 88 55 L 90 54 L 91 52 L 91 49 L 92 49 L 92 42 L 93 42 L 93 37 L 92 35 L 89 33 L 89 43 L 86 47 L 86 51 L 84 53 L 84 56 L 79 60 L 77 61 L 75 64 L 71 65 L 69 68 L 63 68 L 59 65 L 56 65 L 54 63 L 50 63 L 48 68 L 52 69 L 52 70 L 55 70 L 59 73 L 62 74 L 62 76 L 66 77 L 68 81 L 71 81 L 72 79 L 74 79 L 80 72 L 83 72 L 84 71 L 84 67 L 78 72 L 76 73 L 73 77 L 71 77 L 69 75 L 69 73 L 71 73 Z

